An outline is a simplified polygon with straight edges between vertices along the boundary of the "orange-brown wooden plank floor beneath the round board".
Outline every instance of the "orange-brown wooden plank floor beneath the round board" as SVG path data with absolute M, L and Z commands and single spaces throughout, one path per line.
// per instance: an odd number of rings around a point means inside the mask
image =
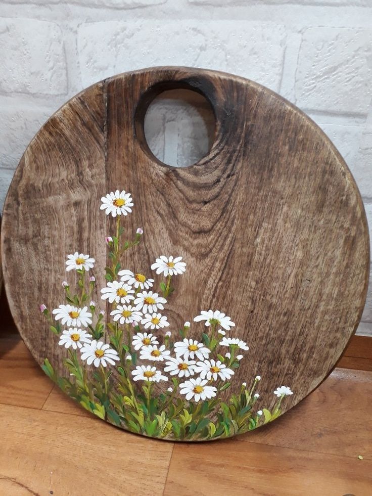
M 4 300 L 0 312 L 0 496 L 372 494 L 372 338 L 353 338 L 332 375 L 271 425 L 171 443 L 80 409 L 36 365 Z

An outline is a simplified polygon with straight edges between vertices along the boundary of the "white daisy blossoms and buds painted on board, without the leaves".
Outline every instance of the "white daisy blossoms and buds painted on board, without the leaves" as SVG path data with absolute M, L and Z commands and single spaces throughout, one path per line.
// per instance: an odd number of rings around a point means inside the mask
M 111 192 L 101 200 L 101 209 L 113 217 L 127 215 L 133 206 L 130 194 L 125 191 Z M 142 234 L 143 230 L 138 229 L 137 235 Z M 106 238 L 106 242 L 110 244 L 113 239 Z M 75 252 L 68 255 L 66 270 L 69 272 L 75 269 L 80 274 L 85 274 L 94 268 L 94 264 L 94 258 Z M 185 272 L 186 264 L 180 256 L 161 255 L 151 265 L 151 269 L 155 270 L 157 275 L 168 278 L 170 282 L 171 277 Z M 119 280 L 107 282 L 106 287 L 101 289 L 101 298 L 111 304 L 110 315 L 116 325 L 125 326 L 127 330 L 131 326 L 135 331 L 138 331 L 140 325 L 143 326 L 144 331 L 136 332 L 131 336 L 131 343 L 128 342 L 128 345 L 130 344 L 139 354 L 140 360 L 150 362 L 150 365 L 138 365 L 131 371 L 133 381 L 146 381 L 150 387 L 151 383 L 168 381 L 170 376 L 177 378 L 177 381 L 174 382 L 174 388 L 170 387 L 168 392 L 173 394 L 178 386 L 180 394 L 184 395 L 187 401 L 198 402 L 216 396 L 218 392 L 216 386 L 229 381 L 235 374 L 233 369 L 239 366 L 238 363 L 243 358 L 242 354 L 237 354 L 239 350 L 249 349 L 243 340 L 226 336 L 226 332 L 235 327 L 231 318 L 219 310 L 202 310 L 200 315 L 194 318 L 196 323 L 204 322 L 205 326 L 211 329 L 212 336 L 217 333 L 216 345 L 218 344 L 221 349 L 228 348 L 223 356 L 214 352 L 216 346 L 211 346 L 212 351 L 204 342 L 189 337 L 184 337 L 182 341 L 176 341 L 171 346 L 174 352 L 174 356 L 171 356 L 171 350 L 167 349 L 171 333 L 166 332 L 165 344 L 161 345 L 157 336 L 153 334 L 159 329 L 169 327 L 168 319 L 162 313 L 167 300 L 154 291 L 154 279 L 142 273 L 133 273 L 129 269 L 119 270 L 117 274 Z M 89 278 L 89 283 L 94 285 L 93 276 Z M 67 282 L 64 282 L 63 286 L 67 289 L 69 287 Z M 163 294 L 166 296 L 164 292 Z M 44 305 L 40 309 L 44 311 Z M 54 309 L 55 320 L 61 321 L 60 324 L 67 327 L 60 335 L 59 345 L 79 350 L 81 359 L 86 360 L 87 365 L 114 366 L 120 360 L 116 349 L 104 341 L 92 339 L 93 336 L 89 334 L 95 309 L 94 301 L 91 301 L 89 306 L 61 304 Z M 101 319 L 103 315 L 104 312 L 100 311 Z M 190 322 L 186 322 L 183 327 L 184 335 L 187 335 L 189 329 Z M 129 363 L 130 360 L 132 357 L 128 355 Z M 260 379 L 260 376 L 256 376 L 255 384 Z M 274 391 L 274 394 L 283 398 L 293 393 L 289 387 L 281 386 Z M 259 394 L 256 393 L 255 397 L 258 396 Z

